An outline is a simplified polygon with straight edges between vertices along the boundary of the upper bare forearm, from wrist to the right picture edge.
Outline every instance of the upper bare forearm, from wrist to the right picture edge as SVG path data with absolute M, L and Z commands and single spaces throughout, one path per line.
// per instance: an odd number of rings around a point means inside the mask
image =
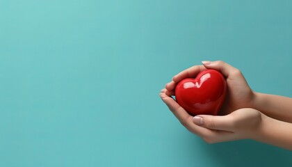
M 255 93 L 253 108 L 271 118 L 292 122 L 292 98 Z

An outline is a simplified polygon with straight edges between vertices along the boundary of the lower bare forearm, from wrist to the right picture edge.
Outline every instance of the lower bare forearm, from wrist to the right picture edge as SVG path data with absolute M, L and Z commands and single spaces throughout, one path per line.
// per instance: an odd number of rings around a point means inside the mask
M 280 148 L 292 150 L 292 124 L 269 118 L 262 114 L 261 125 L 254 131 L 253 139 Z

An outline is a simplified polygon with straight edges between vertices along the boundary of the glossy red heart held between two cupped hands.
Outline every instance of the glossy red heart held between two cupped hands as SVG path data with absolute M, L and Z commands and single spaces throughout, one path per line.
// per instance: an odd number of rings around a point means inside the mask
M 183 79 L 175 87 L 175 100 L 190 115 L 218 115 L 225 100 L 227 84 L 216 70 L 204 70 L 195 79 Z

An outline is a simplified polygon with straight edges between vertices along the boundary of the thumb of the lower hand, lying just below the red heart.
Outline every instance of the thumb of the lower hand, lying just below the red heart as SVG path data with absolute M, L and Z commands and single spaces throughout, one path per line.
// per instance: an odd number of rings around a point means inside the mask
M 193 122 L 196 125 L 206 127 L 208 129 L 225 130 L 232 132 L 232 118 L 227 116 L 209 116 L 198 115 L 193 117 Z

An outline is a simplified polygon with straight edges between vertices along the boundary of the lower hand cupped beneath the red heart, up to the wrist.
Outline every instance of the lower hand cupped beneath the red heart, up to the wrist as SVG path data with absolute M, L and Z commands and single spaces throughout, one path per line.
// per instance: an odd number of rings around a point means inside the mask
M 244 138 L 254 139 L 261 127 L 263 114 L 256 109 L 238 109 L 226 116 L 190 116 L 172 97 L 161 90 L 160 96 L 170 111 L 186 129 L 200 136 L 207 143 L 234 141 Z

